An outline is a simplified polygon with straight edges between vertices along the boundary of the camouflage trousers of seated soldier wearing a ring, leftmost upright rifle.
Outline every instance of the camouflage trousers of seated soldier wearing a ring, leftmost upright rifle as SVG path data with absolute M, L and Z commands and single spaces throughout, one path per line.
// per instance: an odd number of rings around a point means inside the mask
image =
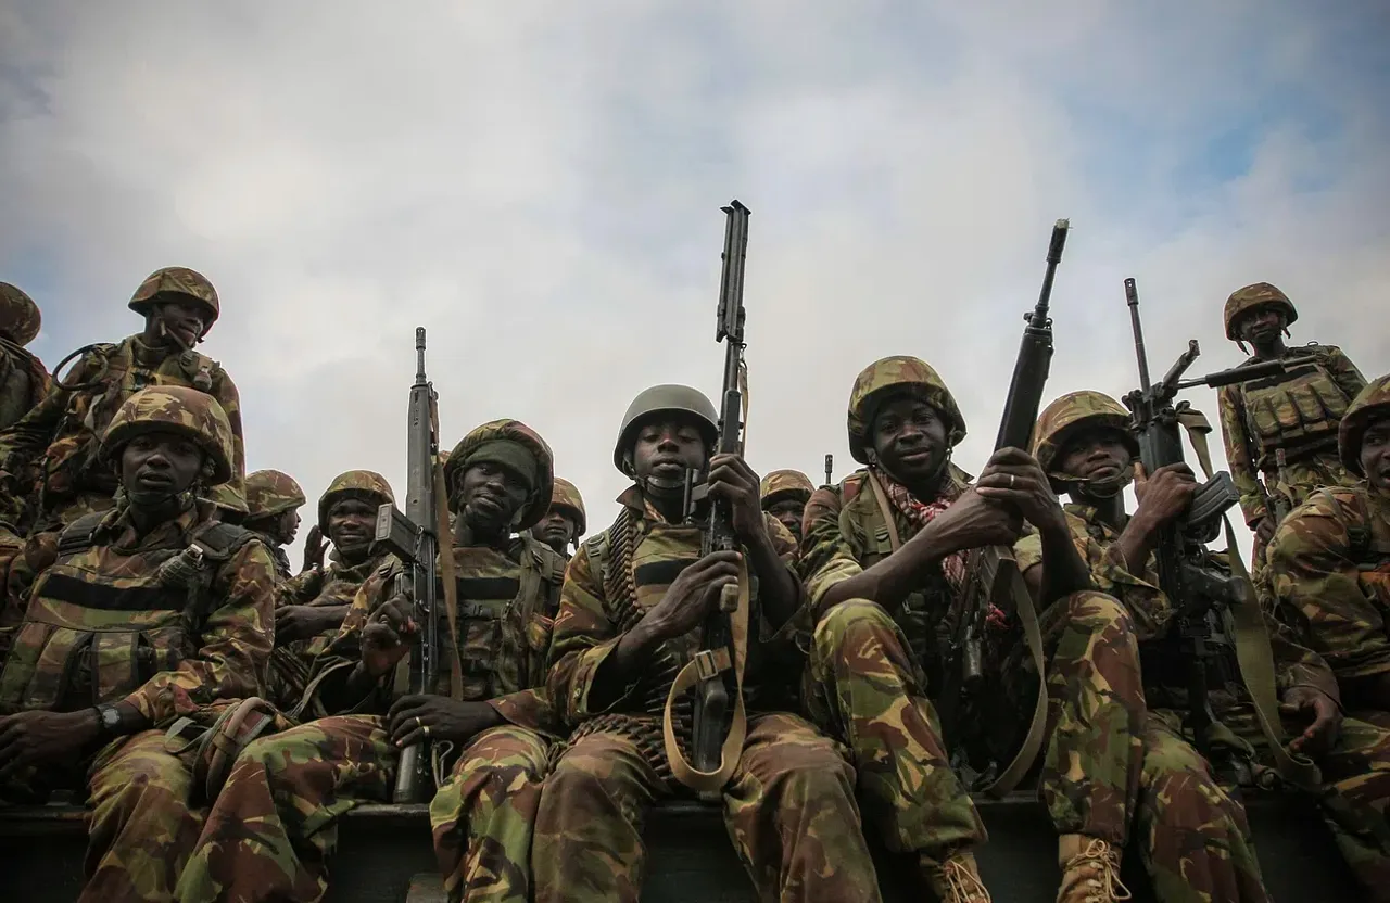
M 525 903 L 531 828 L 549 743 L 516 725 L 484 731 L 430 804 L 455 903 Z M 261 738 L 238 757 L 178 885 L 182 903 L 321 900 L 338 822 L 391 800 L 399 750 L 385 720 L 341 715 Z

